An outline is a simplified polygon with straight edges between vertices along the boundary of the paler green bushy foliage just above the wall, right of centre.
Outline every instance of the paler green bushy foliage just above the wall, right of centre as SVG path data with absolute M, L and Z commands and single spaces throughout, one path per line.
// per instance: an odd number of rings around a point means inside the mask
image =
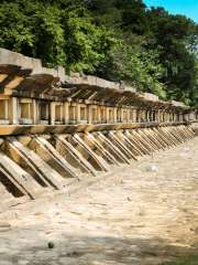
M 109 52 L 107 62 L 98 65 L 96 75 L 116 82 L 122 80 L 128 86 L 154 93 L 165 99 L 165 85 L 158 81 L 165 70 L 160 64 L 155 65 L 158 54 L 142 46 L 152 40 L 122 32 L 119 36 L 122 42 Z

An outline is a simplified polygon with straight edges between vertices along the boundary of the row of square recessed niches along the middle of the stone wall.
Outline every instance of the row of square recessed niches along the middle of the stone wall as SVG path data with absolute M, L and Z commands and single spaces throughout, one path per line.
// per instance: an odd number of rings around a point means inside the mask
M 193 118 L 195 119 L 195 118 Z M 31 98 L 0 99 L 0 124 L 75 125 L 183 121 L 183 115 Z

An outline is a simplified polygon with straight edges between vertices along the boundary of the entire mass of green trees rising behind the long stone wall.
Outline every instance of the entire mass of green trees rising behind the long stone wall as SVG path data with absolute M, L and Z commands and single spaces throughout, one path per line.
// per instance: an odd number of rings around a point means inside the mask
M 198 24 L 142 0 L 0 0 L 0 46 L 198 106 Z

